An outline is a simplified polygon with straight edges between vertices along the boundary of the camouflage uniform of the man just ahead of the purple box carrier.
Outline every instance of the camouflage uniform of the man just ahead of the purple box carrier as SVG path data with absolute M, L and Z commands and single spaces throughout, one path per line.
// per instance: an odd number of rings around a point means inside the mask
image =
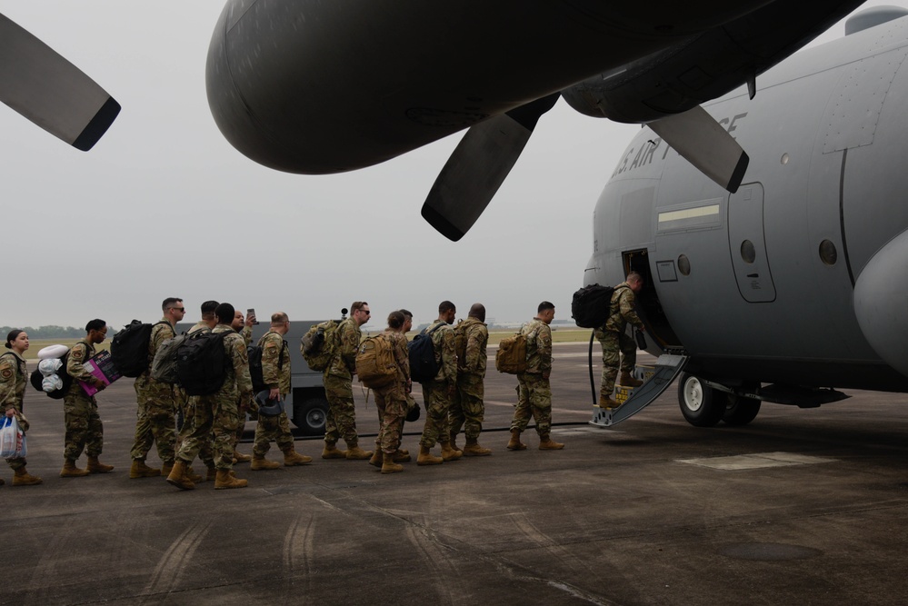
M 151 377 L 151 363 L 161 344 L 175 336 L 174 327 L 166 318 L 152 327 L 148 340 L 148 367 L 136 377 L 134 384 L 138 419 L 135 422 L 133 450 L 129 452 L 134 461 L 145 461 L 152 442 L 155 442 L 161 461 L 170 465 L 174 463 L 178 397 L 174 385 L 155 381 Z

